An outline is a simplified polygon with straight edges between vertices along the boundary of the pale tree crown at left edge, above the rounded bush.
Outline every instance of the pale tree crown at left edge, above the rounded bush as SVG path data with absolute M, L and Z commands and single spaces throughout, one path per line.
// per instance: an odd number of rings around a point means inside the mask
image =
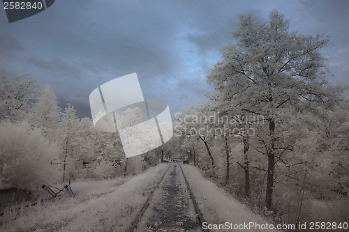
M 0 120 L 22 120 L 34 107 L 40 95 L 36 79 L 17 77 L 10 82 L 6 76 L 0 79 Z

